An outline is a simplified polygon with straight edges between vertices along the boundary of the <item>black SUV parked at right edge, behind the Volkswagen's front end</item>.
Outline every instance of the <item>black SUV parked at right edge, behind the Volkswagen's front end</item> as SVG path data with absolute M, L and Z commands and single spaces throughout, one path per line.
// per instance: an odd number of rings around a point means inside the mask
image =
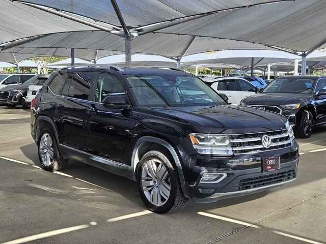
M 326 124 L 326 76 L 282 76 L 260 94 L 241 101 L 286 116 L 295 136 L 310 137 L 313 127 Z

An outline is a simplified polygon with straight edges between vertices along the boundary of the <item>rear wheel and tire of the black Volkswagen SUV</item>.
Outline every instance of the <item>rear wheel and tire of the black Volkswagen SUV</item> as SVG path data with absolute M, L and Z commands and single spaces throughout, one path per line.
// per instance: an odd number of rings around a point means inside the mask
M 67 166 L 68 159 L 63 158 L 58 150 L 58 144 L 49 128 L 42 129 L 37 143 L 40 164 L 47 171 L 59 171 Z M 45 157 L 43 157 L 45 156 Z

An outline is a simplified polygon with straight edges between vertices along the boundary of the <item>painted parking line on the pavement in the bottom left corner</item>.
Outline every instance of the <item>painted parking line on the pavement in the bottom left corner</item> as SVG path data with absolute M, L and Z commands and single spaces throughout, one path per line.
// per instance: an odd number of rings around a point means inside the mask
M 30 235 L 30 236 L 22 237 L 19 239 L 3 242 L 1 244 L 19 244 L 19 243 L 32 241 L 32 240 L 38 240 L 38 239 L 50 237 L 53 235 L 60 235 L 60 234 L 75 231 L 75 230 L 85 229 L 87 227 L 90 227 L 90 225 L 77 225 L 77 226 L 72 226 L 72 227 L 63 228 L 63 229 L 59 229 L 59 230 L 52 230 L 52 231 L 48 231 L 48 232 L 44 232 L 44 233 L 40 233 L 40 234 L 36 234 L 36 235 Z

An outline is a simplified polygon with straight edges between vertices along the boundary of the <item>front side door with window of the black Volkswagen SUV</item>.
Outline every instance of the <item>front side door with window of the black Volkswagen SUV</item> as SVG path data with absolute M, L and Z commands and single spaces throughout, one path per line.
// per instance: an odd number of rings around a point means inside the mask
M 125 96 L 119 78 L 99 74 L 94 102 L 88 106 L 87 148 L 89 154 L 114 161 L 114 164 L 130 165 L 127 160 L 131 130 L 129 111 L 102 105 L 105 97 L 117 95 Z

